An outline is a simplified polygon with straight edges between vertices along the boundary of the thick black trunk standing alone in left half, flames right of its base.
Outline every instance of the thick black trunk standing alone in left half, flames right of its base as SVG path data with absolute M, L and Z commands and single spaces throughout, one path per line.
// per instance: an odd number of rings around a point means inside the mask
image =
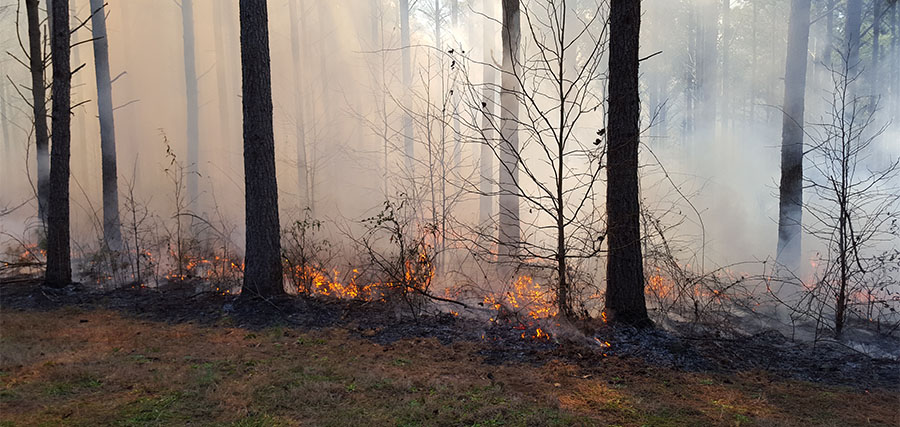
M 240 0 L 240 16 L 247 221 L 242 295 L 269 297 L 284 294 L 284 281 L 266 0 Z

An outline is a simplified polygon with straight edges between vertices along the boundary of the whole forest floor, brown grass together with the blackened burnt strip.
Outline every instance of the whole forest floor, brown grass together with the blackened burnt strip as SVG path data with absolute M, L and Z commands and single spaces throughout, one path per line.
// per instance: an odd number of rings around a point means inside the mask
M 0 308 L 0 425 L 900 424 L 897 362 L 816 362 L 772 337 L 607 331 L 598 350 L 378 303 L 50 293 L 34 281 L 0 283 Z M 634 350 L 660 343 L 667 352 Z M 819 366 L 713 357 L 739 350 Z

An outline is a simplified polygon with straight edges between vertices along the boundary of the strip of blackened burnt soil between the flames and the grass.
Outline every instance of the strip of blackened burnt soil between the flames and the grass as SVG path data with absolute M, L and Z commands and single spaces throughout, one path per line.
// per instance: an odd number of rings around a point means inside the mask
M 0 310 L 50 311 L 60 308 L 114 310 L 138 319 L 248 329 L 274 326 L 298 329 L 342 328 L 380 344 L 409 338 L 436 338 L 477 343 L 488 364 L 543 364 L 561 360 L 588 369 L 609 357 L 634 359 L 646 366 L 730 374 L 765 371 L 775 378 L 856 388 L 900 390 L 900 361 L 871 358 L 841 343 L 815 346 L 789 340 L 777 332 L 735 339 L 681 337 L 659 329 L 601 325 L 583 334 L 552 320 L 522 324 L 448 313 L 413 316 L 402 304 L 284 296 L 245 299 L 195 286 L 167 286 L 165 291 L 122 288 L 92 291 L 74 285 L 56 290 L 28 278 L 0 280 Z M 475 316 L 477 317 L 477 316 Z M 551 337 L 538 336 L 537 328 Z

